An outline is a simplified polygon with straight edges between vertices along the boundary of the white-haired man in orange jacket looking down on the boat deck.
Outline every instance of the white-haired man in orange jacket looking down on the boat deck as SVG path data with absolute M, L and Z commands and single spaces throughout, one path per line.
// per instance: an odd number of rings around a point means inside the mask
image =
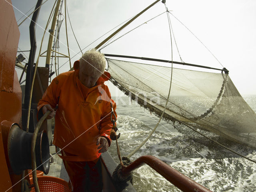
M 54 117 L 53 144 L 61 158 L 74 192 L 102 191 L 100 154 L 110 146 L 111 122 L 116 104 L 108 86 L 110 74 L 104 72 L 106 60 L 95 49 L 74 62 L 74 71 L 58 75 L 38 102 L 38 118 L 48 110 Z M 113 111 L 113 112 L 112 112 Z

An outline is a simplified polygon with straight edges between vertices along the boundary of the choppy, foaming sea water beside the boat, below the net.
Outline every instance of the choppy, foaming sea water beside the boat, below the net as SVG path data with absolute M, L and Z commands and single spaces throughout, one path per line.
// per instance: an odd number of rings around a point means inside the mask
M 256 112 L 256 95 L 243 97 Z M 118 145 L 121 156 L 128 156 L 149 135 L 159 118 L 128 97 L 115 98 L 115 101 L 118 133 L 121 133 Z M 230 148 L 256 160 L 256 150 L 238 144 Z M 112 141 L 109 152 L 119 164 L 115 141 Z M 194 142 L 164 121 L 131 160 L 143 155 L 156 156 L 213 192 L 256 191 L 256 163 L 226 149 L 208 148 Z M 148 165 L 134 170 L 133 184 L 138 192 L 180 191 Z

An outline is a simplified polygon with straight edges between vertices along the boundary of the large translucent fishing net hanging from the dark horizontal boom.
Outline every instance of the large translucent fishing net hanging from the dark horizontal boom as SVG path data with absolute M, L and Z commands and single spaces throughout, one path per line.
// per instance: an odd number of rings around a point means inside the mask
M 107 61 L 112 83 L 160 116 L 168 98 L 172 68 Z M 224 143 L 228 139 L 256 148 L 256 114 L 228 74 L 173 68 L 163 118 L 182 134 L 206 145 L 211 145 L 211 140 Z

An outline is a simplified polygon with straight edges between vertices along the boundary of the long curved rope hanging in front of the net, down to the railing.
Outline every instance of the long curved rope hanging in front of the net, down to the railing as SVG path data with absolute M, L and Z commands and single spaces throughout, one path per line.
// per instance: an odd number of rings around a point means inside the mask
M 171 27 L 170 27 L 170 19 L 168 17 L 168 9 L 166 7 L 166 4 L 165 5 L 165 8 L 166 8 L 166 13 L 167 13 L 167 18 L 168 18 L 168 24 L 169 24 L 169 30 L 170 30 L 170 39 L 171 39 L 171 61 L 172 61 L 172 32 L 171 32 Z M 173 65 L 173 63 L 172 63 Z M 164 112 L 166 110 L 166 107 L 167 107 L 167 104 L 168 104 L 168 100 L 169 100 L 169 97 L 170 97 L 170 92 L 171 92 L 171 86 L 172 86 L 172 70 L 171 70 L 171 80 L 170 80 L 170 87 L 169 87 L 169 92 L 168 92 L 168 97 L 167 97 L 167 100 L 166 100 L 166 104 L 164 106 L 164 110 L 156 124 L 156 126 L 154 127 L 154 129 L 151 131 L 151 133 L 149 134 L 149 136 L 140 144 L 140 146 L 138 146 L 133 152 L 131 152 L 129 155 L 128 155 L 128 158 L 132 157 L 147 141 L 148 139 L 152 136 L 152 134 L 155 132 L 158 124 L 160 123 L 160 121 L 162 120 L 162 117 L 164 115 Z

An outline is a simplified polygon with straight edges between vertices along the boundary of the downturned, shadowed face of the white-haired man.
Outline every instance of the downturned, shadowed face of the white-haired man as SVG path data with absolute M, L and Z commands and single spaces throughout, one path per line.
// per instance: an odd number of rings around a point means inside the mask
M 87 88 L 92 88 L 102 73 L 98 70 L 96 70 L 96 73 L 93 72 L 93 70 L 91 70 L 92 67 L 88 65 L 89 64 L 84 64 L 84 66 L 79 66 L 79 80 Z

